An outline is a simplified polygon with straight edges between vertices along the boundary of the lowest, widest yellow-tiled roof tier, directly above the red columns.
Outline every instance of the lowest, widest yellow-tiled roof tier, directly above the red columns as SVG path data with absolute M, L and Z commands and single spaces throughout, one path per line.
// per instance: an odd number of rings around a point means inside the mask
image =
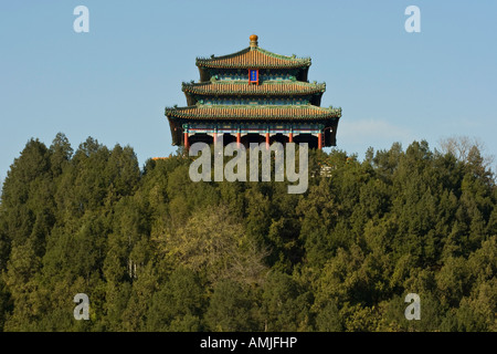
M 195 105 L 168 107 L 166 116 L 183 119 L 264 119 L 306 121 L 339 118 L 341 108 L 324 108 L 314 105 Z

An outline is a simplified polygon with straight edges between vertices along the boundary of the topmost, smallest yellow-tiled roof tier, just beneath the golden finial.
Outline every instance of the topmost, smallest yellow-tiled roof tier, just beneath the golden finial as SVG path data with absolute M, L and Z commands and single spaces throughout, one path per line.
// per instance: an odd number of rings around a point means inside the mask
M 248 46 L 240 52 L 211 58 L 197 58 L 199 67 L 216 69 L 292 69 L 310 66 L 310 58 L 287 56 L 258 46 Z

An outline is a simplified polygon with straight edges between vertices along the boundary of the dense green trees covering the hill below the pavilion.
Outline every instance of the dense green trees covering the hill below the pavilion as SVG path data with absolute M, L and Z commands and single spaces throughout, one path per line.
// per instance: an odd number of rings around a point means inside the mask
M 302 195 L 193 183 L 190 163 L 28 142 L 1 195 L 0 330 L 497 331 L 497 189 L 476 146 L 311 150 Z

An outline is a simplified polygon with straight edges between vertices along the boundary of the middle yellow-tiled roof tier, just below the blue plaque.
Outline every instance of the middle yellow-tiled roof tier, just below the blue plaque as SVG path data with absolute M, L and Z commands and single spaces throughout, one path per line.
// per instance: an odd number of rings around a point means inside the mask
M 246 80 L 183 83 L 181 90 L 199 95 L 308 95 L 324 93 L 326 84 L 302 81 L 264 81 L 260 85 L 248 84 Z

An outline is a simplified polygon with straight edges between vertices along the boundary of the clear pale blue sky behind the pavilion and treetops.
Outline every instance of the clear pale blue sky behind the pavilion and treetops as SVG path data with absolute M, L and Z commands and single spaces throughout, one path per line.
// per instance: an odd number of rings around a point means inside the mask
M 76 6 L 89 32 L 76 33 Z M 421 32 L 408 33 L 408 6 Z M 92 136 L 134 147 L 140 165 L 176 152 L 165 106 L 186 105 L 181 82 L 197 56 L 261 48 L 310 56 L 326 82 L 322 106 L 341 106 L 338 148 L 362 159 L 454 135 L 497 155 L 497 1 L 0 2 L 0 180 L 31 137 L 57 132 L 73 148 Z

